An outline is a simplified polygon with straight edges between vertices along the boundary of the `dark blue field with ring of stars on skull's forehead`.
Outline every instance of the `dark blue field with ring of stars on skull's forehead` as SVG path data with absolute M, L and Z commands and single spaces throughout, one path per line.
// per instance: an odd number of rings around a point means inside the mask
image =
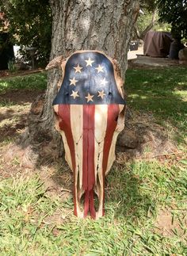
M 117 90 L 113 63 L 101 52 L 74 53 L 53 105 L 125 104 Z

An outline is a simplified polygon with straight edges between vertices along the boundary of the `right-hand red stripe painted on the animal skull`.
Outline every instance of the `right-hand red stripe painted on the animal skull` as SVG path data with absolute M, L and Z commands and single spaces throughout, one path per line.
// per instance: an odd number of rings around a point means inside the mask
M 109 159 L 109 151 L 111 147 L 111 143 L 113 141 L 113 133 L 116 129 L 117 117 L 119 115 L 120 109 L 119 105 L 113 104 L 108 105 L 108 115 L 107 115 L 107 126 L 105 132 L 105 142 L 103 147 L 103 162 L 102 162 L 102 170 L 103 170 L 103 215 L 104 215 L 104 200 L 105 200 L 105 172 L 107 168 L 107 163 Z

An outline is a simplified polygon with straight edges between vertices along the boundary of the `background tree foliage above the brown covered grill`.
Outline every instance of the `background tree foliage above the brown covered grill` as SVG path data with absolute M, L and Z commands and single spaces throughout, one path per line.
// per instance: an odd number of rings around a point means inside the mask
M 134 37 L 143 40 L 147 31 L 170 31 L 173 37 L 187 37 L 187 0 L 140 0 Z

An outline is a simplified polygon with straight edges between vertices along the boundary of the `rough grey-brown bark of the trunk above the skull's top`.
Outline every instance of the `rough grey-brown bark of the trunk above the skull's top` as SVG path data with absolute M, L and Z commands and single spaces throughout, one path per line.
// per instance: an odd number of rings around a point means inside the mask
M 64 57 L 77 50 L 101 50 L 127 68 L 128 45 L 139 1 L 51 0 L 52 52 Z

